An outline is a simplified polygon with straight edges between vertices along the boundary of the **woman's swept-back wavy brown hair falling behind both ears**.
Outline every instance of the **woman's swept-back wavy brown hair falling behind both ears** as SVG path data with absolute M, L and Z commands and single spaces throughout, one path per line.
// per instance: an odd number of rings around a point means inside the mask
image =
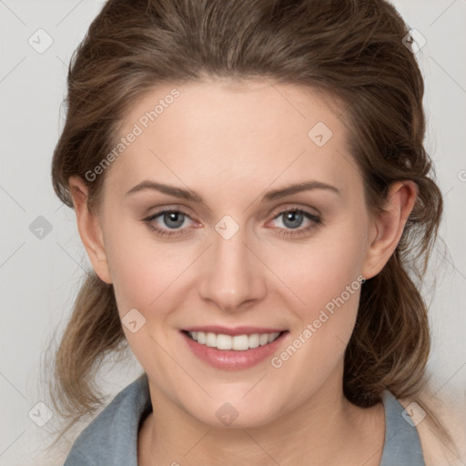
M 88 181 L 86 172 L 115 146 L 129 106 L 157 84 L 267 77 L 337 97 L 369 208 L 383 206 L 394 181 L 419 189 L 398 248 L 362 286 L 344 392 L 362 407 L 383 390 L 415 397 L 430 349 L 415 281 L 426 270 L 442 200 L 423 147 L 423 81 L 403 40 L 408 32 L 382 0 L 110 0 L 69 67 L 66 125 L 52 164 L 56 194 L 72 207 L 68 179 L 79 176 L 96 206 L 105 174 Z M 56 353 L 54 403 L 68 427 L 101 404 L 92 380 L 104 355 L 125 341 L 112 286 L 89 274 Z

